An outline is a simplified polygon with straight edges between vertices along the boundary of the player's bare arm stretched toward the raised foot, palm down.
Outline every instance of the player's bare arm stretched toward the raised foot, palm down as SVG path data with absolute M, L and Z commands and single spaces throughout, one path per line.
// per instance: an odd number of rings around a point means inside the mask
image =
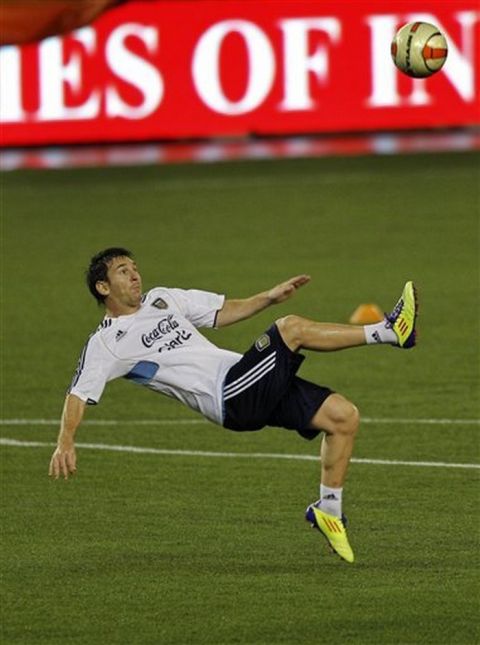
M 225 327 L 231 325 L 239 320 L 245 320 L 257 314 L 258 312 L 266 309 L 270 305 L 285 302 L 293 296 L 293 294 L 310 282 L 310 276 L 297 275 L 285 282 L 275 285 L 268 291 L 262 291 L 250 298 L 242 300 L 225 300 L 222 309 L 217 314 L 217 327 Z

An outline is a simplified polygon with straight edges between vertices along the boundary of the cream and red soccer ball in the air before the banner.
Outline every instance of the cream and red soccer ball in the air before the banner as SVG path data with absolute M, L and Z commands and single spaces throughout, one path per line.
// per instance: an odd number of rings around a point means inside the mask
M 426 78 L 443 67 L 448 44 L 435 25 L 409 22 L 395 34 L 390 51 L 393 62 L 404 74 Z

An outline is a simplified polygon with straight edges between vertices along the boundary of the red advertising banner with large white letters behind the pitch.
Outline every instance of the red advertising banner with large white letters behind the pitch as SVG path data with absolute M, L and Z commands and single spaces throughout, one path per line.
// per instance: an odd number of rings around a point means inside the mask
M 449 44 L 402 75 L 406 22 Z M 1 141 L 49 143 L 374 131 L 480 123 L 476 0 L 129 2 L 63 37 L 0 49 Z

